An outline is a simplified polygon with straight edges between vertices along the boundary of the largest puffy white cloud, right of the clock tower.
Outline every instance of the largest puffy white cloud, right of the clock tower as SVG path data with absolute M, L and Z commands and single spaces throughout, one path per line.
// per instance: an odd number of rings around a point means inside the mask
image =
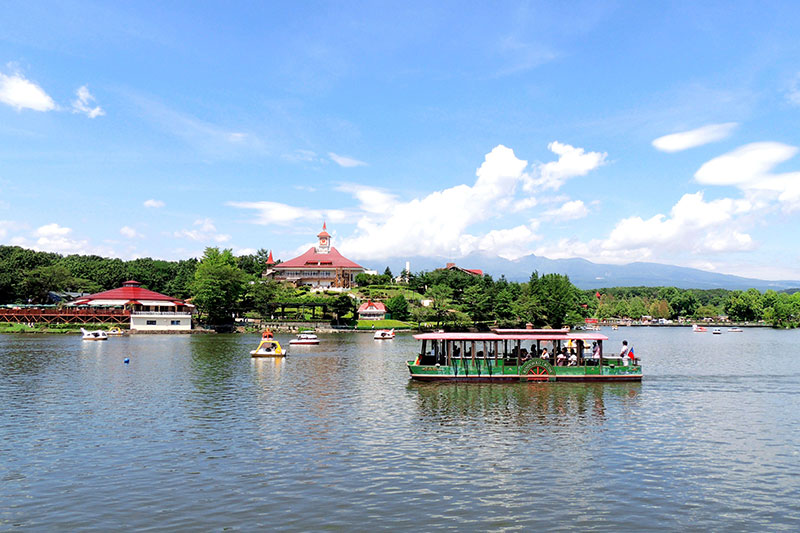
M 290 225 L 323 219 L 329 223 L 355 222 L 354 233 L 341 238 L 337 248 L 359 259 L 414 255 L 462 257 L 470 253 L 516 259 L 531 252 L 532 244 L 539 239 L 539 222 L 520 224 L 516 220 L 511 228 L 498 228 L 496 220 L 537 205 L 537 199 L 531 196 L 540 190 L 537 187 L 560 187 L 566 180 L 602 165 L 606 158 L 604 153 L 587 153 L 561 143 L 551 143 L 550 149 L 559 155 L 559 160 L 535 165 L 535 176 L 531 176 L 527 161 L 499 145 L 486 155 L 471 185 L 456 185 L 411 200 L 401 200 L 375 187 L 342 184 L 336 189 L 351 194 L 357 207 L 331 211 L 272 201 L 227 205 L 257 211 L 253 219 L 256 224 Z M 552 195 L 547 197 L 552 198 Z M 576 218 L 587 211 L 581 201 L 568 202 L 563 197 L 559 201 L 568 204 L 559 211 L 564 217 Z M 477 227 L 481 229 L 474 229 Z

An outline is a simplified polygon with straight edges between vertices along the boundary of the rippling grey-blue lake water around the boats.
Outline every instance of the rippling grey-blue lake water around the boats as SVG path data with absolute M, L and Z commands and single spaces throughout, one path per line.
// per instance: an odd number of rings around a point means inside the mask
M 642 383 L 410 382 L 406 334 L 0 335 L 0 530 L 799 530 L 800 331 L 604 333 Z

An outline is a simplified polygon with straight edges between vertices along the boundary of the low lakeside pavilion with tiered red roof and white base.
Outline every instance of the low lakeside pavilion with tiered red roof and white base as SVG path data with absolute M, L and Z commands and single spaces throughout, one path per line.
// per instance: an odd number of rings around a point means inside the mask
M 192 329 L 194 306 L 165 294 L 143 289 L 135 280 L 122 287 L 78 298 L 70 305 L 130 310 L 130 328 L 143 331 Z

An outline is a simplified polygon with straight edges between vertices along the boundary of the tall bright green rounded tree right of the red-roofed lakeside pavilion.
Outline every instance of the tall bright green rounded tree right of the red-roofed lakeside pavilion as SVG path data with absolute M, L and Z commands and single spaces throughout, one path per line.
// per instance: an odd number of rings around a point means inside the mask
M 245 280 L 230 249 L 206 248 L 194 274 L 192 303 L 206 313 L 209 323 L 230 324 L 244 294 Z

